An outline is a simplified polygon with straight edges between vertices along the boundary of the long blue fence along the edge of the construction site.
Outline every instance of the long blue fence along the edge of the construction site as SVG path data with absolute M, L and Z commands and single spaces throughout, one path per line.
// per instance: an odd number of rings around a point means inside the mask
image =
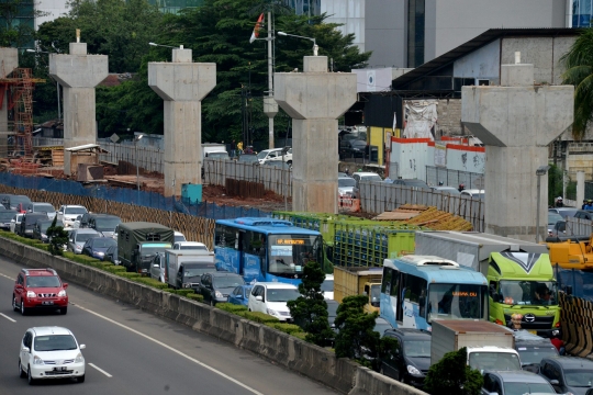
M 97 198 L 119 203 L 135 204 L 150 208 L 183 213 L 210 219 L 237 218 L 242 216 L 269 216 L 270 213 L 258 208 L 242 206 L 224 206 L 209 202 L 190 202 L 175 198 L 165 198 L 156 192 L 136 191 L 126 188 L 110 188 L 105 185 L 82 185 L 77 181 L 47 179 L 41 177 L 24 177 L 11 173 L 0 173 L 0 184 L 11 188 L 44 190 L 78 196 Z M 133 210 L 131 207 L 131 210 Z

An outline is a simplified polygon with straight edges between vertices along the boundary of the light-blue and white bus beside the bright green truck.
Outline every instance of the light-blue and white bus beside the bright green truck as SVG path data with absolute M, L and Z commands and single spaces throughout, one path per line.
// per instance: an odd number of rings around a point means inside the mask
M 430 330 L 433 319 L 489 320 L 488 281 L 439 257 L 385 259 L 380 305 L 381 317 L 401 328 Z

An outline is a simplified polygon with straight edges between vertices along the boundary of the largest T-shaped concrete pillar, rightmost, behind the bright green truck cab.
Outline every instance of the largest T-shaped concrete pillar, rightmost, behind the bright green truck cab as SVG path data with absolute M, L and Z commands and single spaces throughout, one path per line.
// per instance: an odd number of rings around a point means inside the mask
M 533 65 L 502 65 L 500 87 L 463 87 L 461 121 L 486 146 L 485 232 L 536 238 L 537 176 L 548 145 L 573 120 L 572 86 L 534 86 Z M 548 177 L 541 177 L 539 235 L 545 239 Z

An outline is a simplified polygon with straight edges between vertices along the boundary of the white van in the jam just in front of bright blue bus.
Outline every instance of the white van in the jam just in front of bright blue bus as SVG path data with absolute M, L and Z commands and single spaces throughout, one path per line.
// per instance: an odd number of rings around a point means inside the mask
M 287 302 L 294 301 L 299 296 L 299 289 L 292 284 L 280 282 L 255 283 L 249 294 L 247 307 L 249 312 L 261 312 L 281 321 L 292 321 Z

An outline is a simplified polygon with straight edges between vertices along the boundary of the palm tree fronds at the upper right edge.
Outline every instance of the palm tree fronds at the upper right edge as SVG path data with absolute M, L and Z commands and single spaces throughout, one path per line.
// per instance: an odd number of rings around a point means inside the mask
M 572 137 L 582 139 L 593 120 L 593 29 L 585 29 L 560 58 L 567 68 L 562 83 L 574 86 Z

